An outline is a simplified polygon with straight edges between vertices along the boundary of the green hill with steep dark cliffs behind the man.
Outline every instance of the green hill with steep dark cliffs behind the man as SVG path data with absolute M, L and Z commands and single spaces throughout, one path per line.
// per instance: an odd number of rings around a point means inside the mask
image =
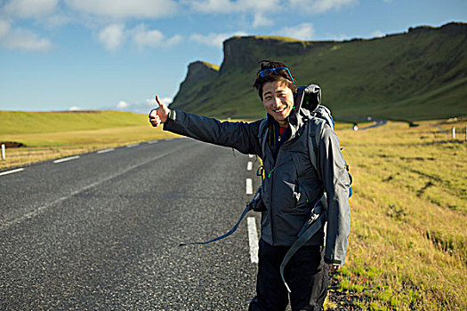
M 265 115 L 252 85 L 260 60 L 286 63 L 297 84 L 319 84 L 337 118 L 420 120 L 467 115 L 467 23 L 350 41 L 235 36 L 221 67 L 189 64 L 172 108 L 205 116 Z

